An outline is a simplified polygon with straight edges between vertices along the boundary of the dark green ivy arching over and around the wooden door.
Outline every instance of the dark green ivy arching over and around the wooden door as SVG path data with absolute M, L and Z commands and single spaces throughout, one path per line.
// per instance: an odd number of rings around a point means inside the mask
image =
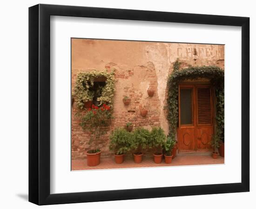
M 179 120 L 179 86 L 178 82 L 186 79 L 209 78 L 216 93 L 216 131 L 224 141 L 224 71 L 217 66 L 196 66 L 180 70 L 180 62 L 177 59 L 174 63 L 174 70 L 168 77 L 168 121 L 169 136 L 175 139 Z

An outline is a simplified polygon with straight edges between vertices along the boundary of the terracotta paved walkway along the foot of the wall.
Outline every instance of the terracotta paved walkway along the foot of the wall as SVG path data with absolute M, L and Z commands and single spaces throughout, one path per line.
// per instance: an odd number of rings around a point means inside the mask
M 204 156 L 176 156 L 171 164 L 156 164 L 153 157 L 144 156 L 141 163 L 134 163 L 133 158 L 126 156 L 121 164 L 116 164 L 113 158 L 101 158 L 101 163 L 94 167 L 87 166 L 87 160 L 72 160 L 72 170 L 95 170 L 95 169 L 118 169 L 118 168 L 141 168 L 141 167 L 158 167 L 158 166 L 177 166 L 177 165 L 205 165 L 205 164 L 223 164 L 224 157 L 213 159 L 209 155 Z

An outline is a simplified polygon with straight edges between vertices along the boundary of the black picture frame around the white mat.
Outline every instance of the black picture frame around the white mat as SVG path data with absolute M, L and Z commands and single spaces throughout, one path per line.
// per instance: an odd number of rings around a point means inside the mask
M 50 194 L 50 16 L 242 26 L 242 181 Z M 249 191 L 249 18 L 39 4 L 29 8 L 29 202 L 38 205 Z

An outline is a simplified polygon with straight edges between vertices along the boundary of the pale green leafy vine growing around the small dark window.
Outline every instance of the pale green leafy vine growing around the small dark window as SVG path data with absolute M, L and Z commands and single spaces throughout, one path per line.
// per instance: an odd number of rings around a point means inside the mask
M 92 91 L 94 86 L 95 78 L 106 78 L 106 85 L 99 87 L 97 90 L 101 96 L 97 98 L 97 101 L 102 104 L 108 104 L 113 107 L 113 98 L 115 93 L 115 76 L 114 71 L 96 71 L 91 72 L 81 72 L 77 75 L 75 86 L 74 86 L 74 96 L 76 97 L 77 107 L 81 110 L 84 109 L 84 104 L 88 101 L 92 101 L 95 92 Z

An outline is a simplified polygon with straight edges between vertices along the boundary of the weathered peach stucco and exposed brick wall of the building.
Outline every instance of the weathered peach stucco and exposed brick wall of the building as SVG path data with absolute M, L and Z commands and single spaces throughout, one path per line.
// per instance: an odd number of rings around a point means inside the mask
M 189 65 L 216 65 L 224 68 L 224 46 L 183 43 L 161 43 L 141 41 L 116 41 L 96 39 L 72 39 L 72 89 L 79 72 L 115 69 L 114 117 L 111 129 L 132 122 L 134 126 L 151 129 L 161 126 L 168 133 L 166 119 L 166 85 L 168 74 L 176 59 L 182 67 Z M 147 90 L 155 90 L 152 98 Z M 124 96 L 131 98 L 125 106 Z M 141 109 L 148 109 L 146 118 L 140 116 Z M 84 158 L 88 150 L 88 136 L 79 127 L 72 111 L 72 158 Z M 108 134 L 103 138 L 103 156 L 109 156 Z

